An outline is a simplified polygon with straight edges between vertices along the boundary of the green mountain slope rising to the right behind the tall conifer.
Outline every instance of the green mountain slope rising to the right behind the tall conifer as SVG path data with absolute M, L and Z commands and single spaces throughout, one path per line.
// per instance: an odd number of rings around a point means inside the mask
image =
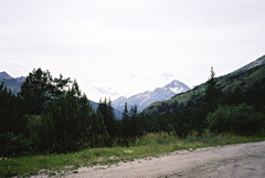
M 224 93 L 232 92 L 236 87 L 247 91 L 252 88 L 256 82 L 265 80 L 264 74 L 265 55 L 234 72 L 216 77 L 215 80 L 218 82 L 218 87 Z M 167 106 L 167 109 L 173 109 L 177 104 L 182 103 L 186 105 L 188 102 L 200 101 L 204 96 L 205 84 L 206 82 L 186 93 L 177 94 L 170 100 L 152 103 L 144 111 L 144 113 L 163 113 L 166 112 L 163 109 L 165 106 Z

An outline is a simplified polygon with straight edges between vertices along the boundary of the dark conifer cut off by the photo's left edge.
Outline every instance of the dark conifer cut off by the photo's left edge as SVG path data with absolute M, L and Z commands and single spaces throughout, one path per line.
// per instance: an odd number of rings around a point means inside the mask
M 20 101 L 3 83 L 0 84 L 0 156 L 15 156 L 26 150 Z

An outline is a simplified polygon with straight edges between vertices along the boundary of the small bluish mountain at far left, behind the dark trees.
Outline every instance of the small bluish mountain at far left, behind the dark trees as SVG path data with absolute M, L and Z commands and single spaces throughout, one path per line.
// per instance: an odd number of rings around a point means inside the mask
M 24 76 L 21 77 L 12 77 L 7 72 L 0 72 L 0 83 L 10 88 L 14 94 L 20 92 L 21 84 L 25 81 Z

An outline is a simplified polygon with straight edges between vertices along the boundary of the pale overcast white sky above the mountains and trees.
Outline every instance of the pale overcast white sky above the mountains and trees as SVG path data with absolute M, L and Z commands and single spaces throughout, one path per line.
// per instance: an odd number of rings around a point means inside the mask
M 116 100 L 194 86 L 265 54 L 264 0 L 0 0 L 0 72 L 76 80 Z

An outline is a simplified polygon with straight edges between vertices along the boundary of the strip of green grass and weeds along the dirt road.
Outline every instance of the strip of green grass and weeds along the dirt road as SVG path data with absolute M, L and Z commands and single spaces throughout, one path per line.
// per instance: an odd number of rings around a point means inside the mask
M 53 154 L 46 156 L 29 156 L 19 158 L 0 158 L 0 177 L 33 176 L 38 174 L 64 176 L 75 174 L 80 167 L 94 165 L 116 165 L 132 161 L 137 158 L 151 159 L 176 150 L 192 151 L 202 147 L 224 146 L 229 144 L 265 140 L 265 136 L 236 136 L 232 134 L 211 135 L 208 130 L 203 136 L 197 133 L 180 139 L 174 134 L 147 134 L 137 138 L 128 147 L 91 148 L 73 154 Z M 147 158 L 148 157 L 148 158 Z

